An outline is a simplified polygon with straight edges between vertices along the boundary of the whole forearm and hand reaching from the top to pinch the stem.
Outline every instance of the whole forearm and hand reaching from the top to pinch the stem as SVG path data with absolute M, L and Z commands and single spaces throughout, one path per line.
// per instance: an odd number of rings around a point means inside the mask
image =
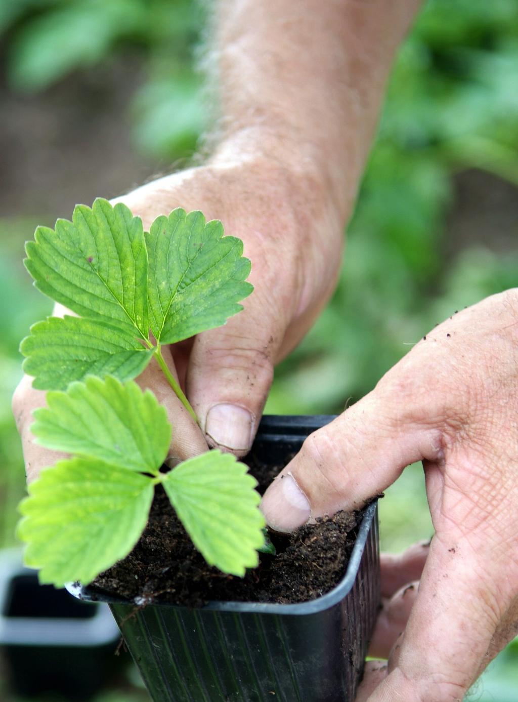
M 255 292 L 244 312 L 225 329 L 163 350 L 201 430 L 156 366 L 140 378 L 173 420 L 173 462 L 204 450 L 206 439 L 237 456 L 248 451 L 274 363 L 333 290 L 385 81 L 418 3 L 215 5 L 210 82 L 218 83 L 220 119 L 213 156 L 118 199 L 145 227 L 177 206 L 200 209 L 243 239 L 252 260 Z M 44 394 L 30 383 L 22 380 L 13 399 L 29 480 L 58 458 L 32 442 L 31 412 Z

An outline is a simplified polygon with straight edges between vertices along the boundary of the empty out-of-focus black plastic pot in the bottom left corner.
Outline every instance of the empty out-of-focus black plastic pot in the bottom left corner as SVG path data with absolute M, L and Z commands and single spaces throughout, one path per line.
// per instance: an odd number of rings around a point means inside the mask
M 0 553 L 0 653 L 16 694 L 90 698 L 105 684 L 119 640 L 105 604 L 39 585 L 20 550 Z

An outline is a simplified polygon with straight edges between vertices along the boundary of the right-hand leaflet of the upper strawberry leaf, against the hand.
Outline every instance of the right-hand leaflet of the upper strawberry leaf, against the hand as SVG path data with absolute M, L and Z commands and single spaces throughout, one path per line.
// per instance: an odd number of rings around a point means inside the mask
M 245 282 L 250 261 L 243 242 L 223 237 L 218 220 L 178 208 L 154 220 L 146 236 L 150 260 L 150 324 L 158 343 L 172 344 L 225 324 L 242 310 L 239 300 L 253 286 Z

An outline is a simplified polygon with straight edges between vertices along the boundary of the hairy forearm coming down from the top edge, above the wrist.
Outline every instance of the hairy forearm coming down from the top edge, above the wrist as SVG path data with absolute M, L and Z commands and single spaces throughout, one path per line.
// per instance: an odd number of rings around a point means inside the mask
M 354 195 L 416 0 L 221 0 L 213 159 L 260 152 Z

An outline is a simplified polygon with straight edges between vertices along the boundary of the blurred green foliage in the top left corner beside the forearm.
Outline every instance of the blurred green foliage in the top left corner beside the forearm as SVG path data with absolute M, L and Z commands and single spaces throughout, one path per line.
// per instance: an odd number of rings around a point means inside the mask
M 154 157 L 191 154 L 202 128 L 193 64 L 204 8 L 192 0 L 2 0 L 0 37 L 14 91 L 37 93 L 74 73 L 136 54 L 142 81 L 128 110 L 135 145 Z

